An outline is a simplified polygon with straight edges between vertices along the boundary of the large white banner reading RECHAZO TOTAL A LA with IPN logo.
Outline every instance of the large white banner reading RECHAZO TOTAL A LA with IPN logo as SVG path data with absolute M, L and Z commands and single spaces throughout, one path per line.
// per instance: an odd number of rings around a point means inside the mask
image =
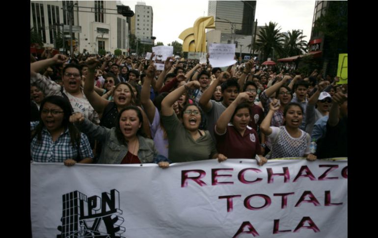
M 347 238 L 348 160 L 31 163 L 35 238 Z

